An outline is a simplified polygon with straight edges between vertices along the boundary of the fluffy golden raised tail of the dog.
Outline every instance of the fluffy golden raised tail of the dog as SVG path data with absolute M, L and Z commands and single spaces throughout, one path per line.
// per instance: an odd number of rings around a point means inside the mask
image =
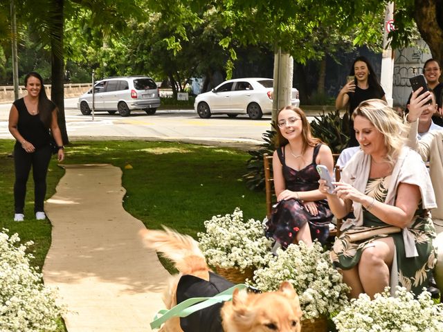
M 183 275 L 208 275 L 208 264 L 199 243 L 189 235 L 180 234 L 163 226 L 164 230 L 141 230 L 145 245 L 174 262 Z

